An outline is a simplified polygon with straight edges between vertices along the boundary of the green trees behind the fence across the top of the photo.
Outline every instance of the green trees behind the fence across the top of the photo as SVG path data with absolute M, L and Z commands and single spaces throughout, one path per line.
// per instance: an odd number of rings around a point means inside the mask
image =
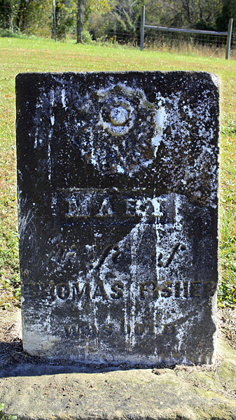
M 144 3 L 155 25 L 227 31 L 234 18 L 236 28 L 236 0 L 55 0 L 57 37 L 77 32 L 81 42 L 88 29 L 93 38 L 138 38 Z M 0 0 L 0 27 L 50 36 L 53 0 Z

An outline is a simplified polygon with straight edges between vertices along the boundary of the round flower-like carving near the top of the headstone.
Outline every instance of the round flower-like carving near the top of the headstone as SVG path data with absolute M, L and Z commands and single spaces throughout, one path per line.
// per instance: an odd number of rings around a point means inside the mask
M 162 135 L 163 109 L 144 92 L 125 85 L 98 90 L 84 107 L 88 126 L 81 138 L 83 159 L 99 172 L 132 176 L 151 165 Z

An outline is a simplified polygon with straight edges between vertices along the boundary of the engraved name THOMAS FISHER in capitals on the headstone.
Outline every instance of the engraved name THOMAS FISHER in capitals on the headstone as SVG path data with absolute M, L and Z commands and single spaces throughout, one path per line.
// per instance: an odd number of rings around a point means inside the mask
M 99 280 L 92 288 L 92 283 L 72 281 L 71 283 L 55 283 L 54 281 L 43 281 L 41 283 L 24 283 L 22 286 L 25 298 L 27 299 L 40 295 L 43 300 L 112 300 L 116 302 L 123 299 L 124 293 L 129 290 L 129 283 L 114 281 L 105 284 Z M 109 290 L 109 292 L 107 291 Z M 168 299 L 190 299 L 202 298 L 214 295 L 216 289 L 214 283 L 207 281 L 141 281 L 139 283 L 140 300 L 156 300 L 160 297 Z

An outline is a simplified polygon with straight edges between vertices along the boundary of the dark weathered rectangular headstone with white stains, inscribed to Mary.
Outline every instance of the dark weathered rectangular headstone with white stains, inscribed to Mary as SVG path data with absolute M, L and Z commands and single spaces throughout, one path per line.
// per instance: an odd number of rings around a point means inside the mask
M 212 363 L 218 78 L 16 78 L 24 349 L 93 363 Z

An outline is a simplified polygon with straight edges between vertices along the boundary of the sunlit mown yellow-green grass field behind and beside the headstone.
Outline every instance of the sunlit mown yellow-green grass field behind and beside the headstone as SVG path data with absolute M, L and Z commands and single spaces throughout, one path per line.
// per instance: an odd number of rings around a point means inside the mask
M 236 61 L 111 45 L 0 38 L 0 306 L 18 302 L 15 76 L 26 71 L 211 71 L 221 80 L 220 306 L 236 307 Z M 15 297 L 14 297 L 15 296 Z

